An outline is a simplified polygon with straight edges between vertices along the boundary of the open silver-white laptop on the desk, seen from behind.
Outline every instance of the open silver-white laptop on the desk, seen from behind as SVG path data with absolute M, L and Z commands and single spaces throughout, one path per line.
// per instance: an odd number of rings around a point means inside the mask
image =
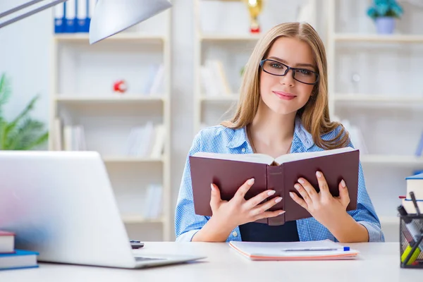
M 97 152 L 0 151 L 0 167 L 0 230 L 39 262 L 138 269 L 204 258 L 133 250 Z

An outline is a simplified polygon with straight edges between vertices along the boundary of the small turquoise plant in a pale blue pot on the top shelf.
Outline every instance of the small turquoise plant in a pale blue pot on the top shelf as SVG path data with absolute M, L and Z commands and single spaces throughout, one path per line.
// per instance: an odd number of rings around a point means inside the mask
M 379 34 L 392 34 L 395 19 L 403 15 L 403 8 L 396 0 L 373 0 L 373 6 L 367 10 L 367 15 L 376 23 Z

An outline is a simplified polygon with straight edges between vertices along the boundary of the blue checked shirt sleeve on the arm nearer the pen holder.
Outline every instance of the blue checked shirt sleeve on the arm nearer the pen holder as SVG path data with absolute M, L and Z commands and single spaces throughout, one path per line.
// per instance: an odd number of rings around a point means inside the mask
M 353 147 L 350 142 L 349 147 Z M 381 223 L 374 210 L 372 200 L 370 200 L 367 193 L 366 184 L 364 181 L 364 174 L 362 171 L 361 162 L 358 171 L 358 195 L 357 195 L 357 209 L 349 211 L 348 214 L 353 216 L 353 219 L 367 228 L 369 233 L 369 242 L 384 242 L 384 233 L 381 230 Z

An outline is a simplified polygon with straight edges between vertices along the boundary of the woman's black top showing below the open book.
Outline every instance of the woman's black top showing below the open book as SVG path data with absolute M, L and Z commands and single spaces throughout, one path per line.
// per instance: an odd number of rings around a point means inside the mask
M 298 242 L 297 221 L 286 221 L 283 225 L 269 226 L 266 223 L 250 222 L 240 226 L 241 238 L 249 242 Z

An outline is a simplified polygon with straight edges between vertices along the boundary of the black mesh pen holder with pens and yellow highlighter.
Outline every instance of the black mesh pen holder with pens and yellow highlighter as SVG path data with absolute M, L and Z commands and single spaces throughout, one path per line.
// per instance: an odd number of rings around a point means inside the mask
M 423 215 L 400 216 L 400 266 L 423 269 Z

